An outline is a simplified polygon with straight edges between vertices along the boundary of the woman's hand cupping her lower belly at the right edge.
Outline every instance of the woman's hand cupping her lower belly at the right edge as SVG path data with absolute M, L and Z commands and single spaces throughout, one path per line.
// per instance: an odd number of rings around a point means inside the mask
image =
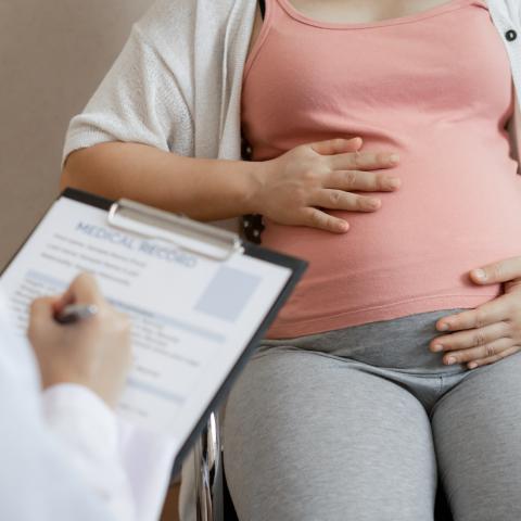
M 470 279 L 480 285 L 504 282 L 504 294 L 475 309 L 441 318 L 436 329 L 450 334 L 436 336 L 430 350 L 445 352 L 446 365 L 467 364 L 474 369 L 521 351 L 521 256 L 473 269 Z

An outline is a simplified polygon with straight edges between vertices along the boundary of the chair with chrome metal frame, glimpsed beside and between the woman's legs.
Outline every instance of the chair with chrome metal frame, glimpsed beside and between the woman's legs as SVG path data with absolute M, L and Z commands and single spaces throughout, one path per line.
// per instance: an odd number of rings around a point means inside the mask
M 193 450 L 198 521 L 238 521 L 223 466 L 219 416 L 209 416 L 205 430 Z M 441 484 L 436 493 L 435 521 L 453 521 Z

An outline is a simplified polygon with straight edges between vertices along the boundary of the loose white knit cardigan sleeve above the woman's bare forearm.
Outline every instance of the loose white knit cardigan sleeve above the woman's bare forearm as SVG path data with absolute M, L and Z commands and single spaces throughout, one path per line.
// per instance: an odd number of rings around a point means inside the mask
M 132 26 L 123 51 L 84 112 L 72 119 L 62 163 L 74 150 L 106 141 L 190 154 L 191 72 L 190 50 L 185 45 L 190 13 L 173 20 L 168 3 L 176 2 L 156 2 Z M 176 30 L 181 24 L 186 24 L 183 30 Z

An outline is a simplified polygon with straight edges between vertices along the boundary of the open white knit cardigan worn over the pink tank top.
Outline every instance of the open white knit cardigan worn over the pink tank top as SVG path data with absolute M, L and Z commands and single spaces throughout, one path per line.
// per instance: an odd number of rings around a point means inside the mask
M 256 0 L 156 0 L 132 27 L 82 114 L 71 122 L 63 160 L 105 141 L 134 141 L 192 157 L 241 157 L 244 62 Z M 521 2 L 488 0 L 521 99 Z M 508 41 L 506 34 L 518 37 Z M 519 103 L 512 155 L 521 138 Z

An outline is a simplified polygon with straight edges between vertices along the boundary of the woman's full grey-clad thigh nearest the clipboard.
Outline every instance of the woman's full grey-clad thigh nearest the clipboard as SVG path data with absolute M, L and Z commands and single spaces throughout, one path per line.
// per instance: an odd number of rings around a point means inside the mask
M 224 436 L 241 520 L 433 518 L 427 414 L 408 391 L 361 364 L 264 352 L 230 393 Z

